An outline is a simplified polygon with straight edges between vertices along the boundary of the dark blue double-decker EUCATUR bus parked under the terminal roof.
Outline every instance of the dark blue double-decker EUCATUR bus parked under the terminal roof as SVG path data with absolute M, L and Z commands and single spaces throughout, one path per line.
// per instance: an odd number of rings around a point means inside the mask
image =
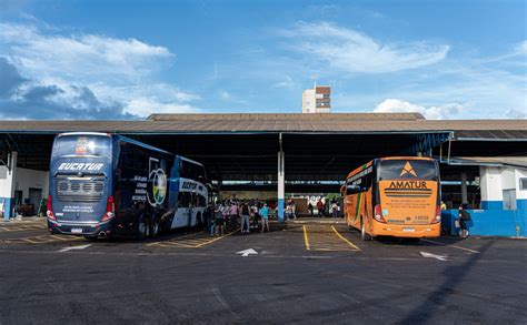
M 62 133 L 51 152 L 48 228 L 142 240 L 201 225 L 206 182 L 200 163 L 122 135 Z

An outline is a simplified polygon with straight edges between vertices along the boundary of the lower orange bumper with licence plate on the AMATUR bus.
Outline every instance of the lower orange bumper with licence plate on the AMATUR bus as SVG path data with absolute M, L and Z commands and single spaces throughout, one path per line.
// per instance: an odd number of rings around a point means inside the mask
M 374 236 L 395 236 L 395 237 L 409 237 L 409 238 L 422 238 L 422 237 L 439 237 L 441 234 L 441 224 L 389 224 L 375 222 Z

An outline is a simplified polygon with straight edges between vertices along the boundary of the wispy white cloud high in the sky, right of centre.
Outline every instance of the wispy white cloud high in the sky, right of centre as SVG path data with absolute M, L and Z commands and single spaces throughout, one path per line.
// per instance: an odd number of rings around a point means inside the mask
M 444 60 L 449 51 L 449 45 L 428 42 L 382 44 L 367 34 L 329 22 L 299 22 L 281 34 L 294 40 L 291 50 L 348 73 L 415 69 Z

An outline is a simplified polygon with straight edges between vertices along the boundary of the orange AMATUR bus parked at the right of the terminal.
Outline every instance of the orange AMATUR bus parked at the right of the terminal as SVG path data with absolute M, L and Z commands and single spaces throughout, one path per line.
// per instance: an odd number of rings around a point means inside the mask
M 375 236 L 437 237 L 441 230 L 439 165 L 418 156 L 375 159 L 341 187 L 349 227 Z

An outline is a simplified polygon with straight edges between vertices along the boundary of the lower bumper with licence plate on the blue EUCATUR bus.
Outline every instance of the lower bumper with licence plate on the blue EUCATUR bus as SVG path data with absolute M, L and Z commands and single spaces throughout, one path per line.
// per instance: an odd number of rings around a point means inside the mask
M 51 234 L 76 236 L 110 236 L 111 224 L 107 222 L 71 222 L 48 219 L 48 231 Z

